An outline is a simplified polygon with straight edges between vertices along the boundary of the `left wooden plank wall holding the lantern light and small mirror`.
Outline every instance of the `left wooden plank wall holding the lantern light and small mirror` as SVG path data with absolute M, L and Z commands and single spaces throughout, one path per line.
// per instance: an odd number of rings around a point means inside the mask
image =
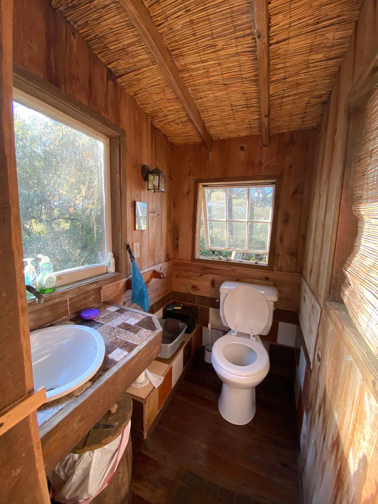
M 126 184 L 121 191 L 126 193 L 128 232 L 122 241 L 140 243 L 140 258 L 136 261 L 141 270 L 155 265 L 162 267 L 162 263 L 172 258 L 173 181 L 168 162 L 172 145 L 115 81 L 88 43 L 47 0 L 15 0 L 14 4 L 14 60 L 125 130 L 126 148 L 121 152 L 121 165 L 126 172 Z M 147 191 L 147 183 L 141 176 L 142 164 L 162 169 L 166 175 L 165 194 Z M 147 231 L 134 230 L 134 201 L 148 202 Z M 162 268 L 170 269 L 171 263 Z M 171 276 L 154 281 L 158 282 L 158 289 L 151 288 L 154 292 L 172 290 Z M 55 303 L 54 309 L 48 303 L 33 307 L 29 313 L 31 329 L 72 314 L 88 302 L 99 301 L 100 287 L 89 289 L 89 297 L 81 293 Z M 151 302 L 155 298 L 156 295 Z

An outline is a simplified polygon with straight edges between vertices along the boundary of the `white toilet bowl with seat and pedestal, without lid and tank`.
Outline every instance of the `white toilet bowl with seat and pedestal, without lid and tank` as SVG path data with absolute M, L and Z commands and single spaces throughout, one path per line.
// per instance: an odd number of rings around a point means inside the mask
M 269 371 L 269 355 L 260 338 L 227 334 L 213 345 L 211 362 L 222 383 L 218 409 L 235 425 L 249 423 L 256 412 L 256 386 Z

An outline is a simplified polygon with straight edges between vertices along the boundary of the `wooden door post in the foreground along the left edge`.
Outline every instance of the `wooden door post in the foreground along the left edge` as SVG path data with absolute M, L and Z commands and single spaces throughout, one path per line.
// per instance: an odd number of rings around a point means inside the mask
M 0 203 L 2 219 L 0 256 L 1 384 L 0 411 L 4 411 L 34 390 L 22 264 L 22 237 L 18 201 L 17 169 L 12 113 L 12 0 L 0 2 Z M 0 436 L 2 501 L 47 504 L 50 499 L 43 469 L 37 413 Z

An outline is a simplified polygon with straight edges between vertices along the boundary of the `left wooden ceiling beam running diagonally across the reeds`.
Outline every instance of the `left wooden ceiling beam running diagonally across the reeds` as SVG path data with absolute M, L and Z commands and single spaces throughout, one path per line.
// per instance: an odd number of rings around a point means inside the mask
M 182 106 L 192 119 L 199 134 L 204 139 L 209 151 L 213 149 L 213 139 L 207 131 L 197 105 L 180 77 L 178 68 L 166 46 L 163 37 L 158 32 L 151 15 L 143 0 L 120 0 L 120 4 L 128 13 L 132 23 L 143 38 L 160 70 L 176 93 Z

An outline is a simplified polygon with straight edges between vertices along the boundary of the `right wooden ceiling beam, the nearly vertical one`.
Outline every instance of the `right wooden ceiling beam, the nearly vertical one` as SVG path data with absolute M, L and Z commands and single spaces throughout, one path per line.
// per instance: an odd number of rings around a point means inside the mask
M 263 145 L 269 142 L 269 12 L 268 0 L 254 0 L 254 28 L 259 67 Z

